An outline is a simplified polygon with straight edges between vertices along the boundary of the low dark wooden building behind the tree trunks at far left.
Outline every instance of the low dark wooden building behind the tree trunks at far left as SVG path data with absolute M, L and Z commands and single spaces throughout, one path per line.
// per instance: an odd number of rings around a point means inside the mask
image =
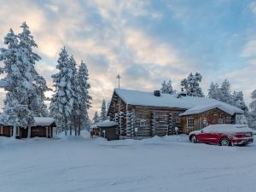
M 31 127 L 30 137 L 48 137 L 52 138 L 55 129 L 55 119 L 45 117 L 35 117 L 35 123 Z M 21 126 L 16 127 L 17 138 L 26 138 L 28 135 L 28 128 Z M 11 125 L 0 125 L 0 136 L 12 137 L 14 128 Z

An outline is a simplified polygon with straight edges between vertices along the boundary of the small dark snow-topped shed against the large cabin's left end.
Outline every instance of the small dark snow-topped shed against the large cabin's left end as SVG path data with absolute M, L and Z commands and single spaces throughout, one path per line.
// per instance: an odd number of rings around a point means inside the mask
M 96 130 L 100 137 L 105 137 L 108 141 L 119 140 L 119 136 L 116 134 L 118 125 L 114 121 L 105 120 L 96 125 L 92 125 L 90 128 Z

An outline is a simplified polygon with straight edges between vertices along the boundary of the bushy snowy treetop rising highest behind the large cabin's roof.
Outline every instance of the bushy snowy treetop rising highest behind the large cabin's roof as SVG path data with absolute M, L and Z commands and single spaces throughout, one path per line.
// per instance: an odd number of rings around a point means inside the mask
M 188 96 L 200 96 L 203 97 L 204 94 L 201 91 L 199 83 L 201 82 L 202 76 L 200 73 L 190 73 L 187 79 L 181 81 L 181 85 L 184 90 L 186 90 Z

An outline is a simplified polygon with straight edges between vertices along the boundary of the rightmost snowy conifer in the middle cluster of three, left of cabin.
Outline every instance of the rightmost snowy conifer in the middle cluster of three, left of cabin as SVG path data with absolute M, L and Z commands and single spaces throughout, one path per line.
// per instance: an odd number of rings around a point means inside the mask
M 79 71 L 76 75 L 76 82 L 78 84 L 78 98 L 79 98 L 79 131 L 80 135 L 82 126 L 90 126 L 90 119 L 88 116 L 88 109 L 90 108 L 90 100 L 92 99 L 89 95 L 90 84 L 88 69 L 83 61 L 79 67 Z

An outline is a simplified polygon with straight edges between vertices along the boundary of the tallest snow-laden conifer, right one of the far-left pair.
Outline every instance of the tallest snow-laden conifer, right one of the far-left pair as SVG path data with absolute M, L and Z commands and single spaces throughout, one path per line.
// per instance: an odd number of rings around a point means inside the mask
M 46 100 L 44 92 L 50 89 L 48 88 L 45 79 L 40 76 L 35 69 L 36 61 L 41 60 L 41 57 L 33 52 L 33 48 L 37 48 L 38 45 L 35 43 L 26 22 L 23 22 L 20 27 L 22 28 L 22 32 L 18 35 L 20 40 L 20 61 L 25 68 L 24 74 L 27 79 L 26 84 L 31 86 L 31 90 L 33 90 L 28 95 L 28 108 L 32 110 L 34 116 L 46 117 L 48 116 L 48 110 L 44 103 Z

